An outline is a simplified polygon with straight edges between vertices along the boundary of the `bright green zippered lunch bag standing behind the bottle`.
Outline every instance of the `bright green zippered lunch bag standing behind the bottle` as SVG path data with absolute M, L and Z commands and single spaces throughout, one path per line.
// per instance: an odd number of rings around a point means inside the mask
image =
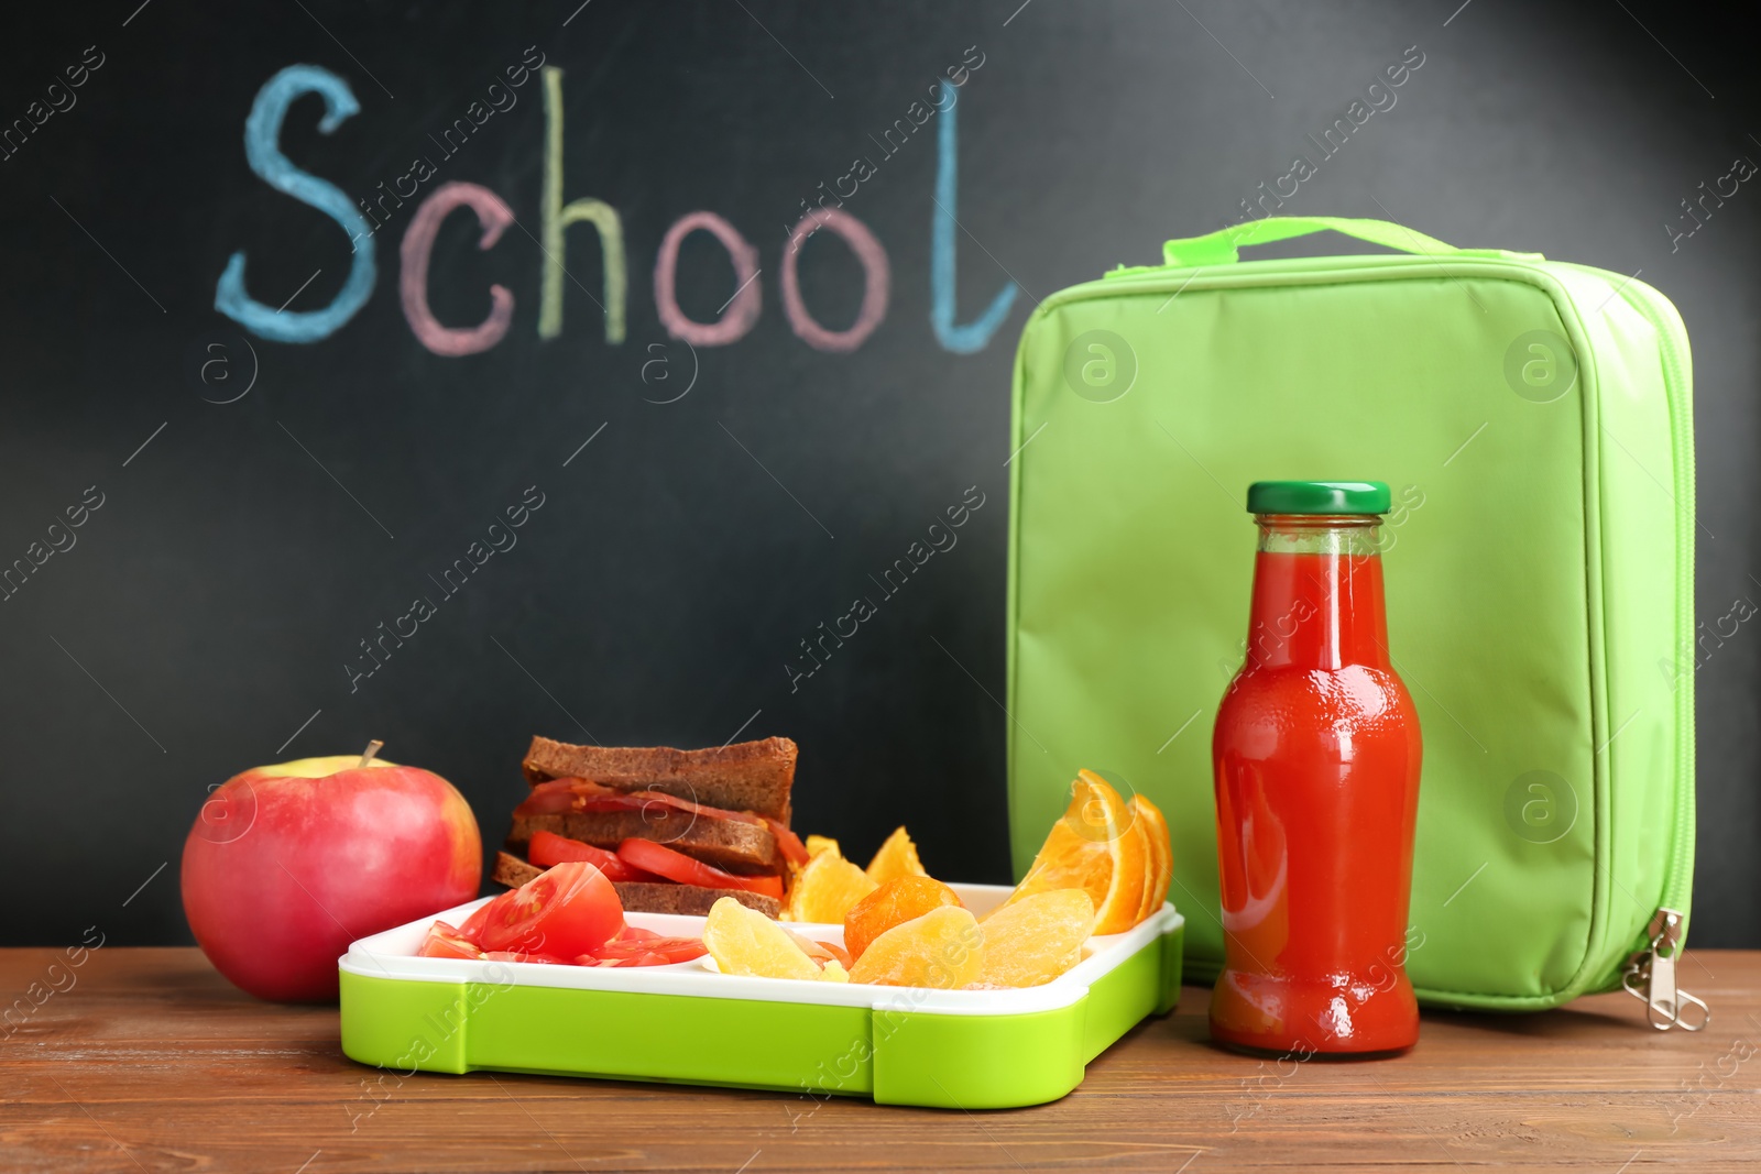
M 1400 253 L 1238 262 L 1331 229 Z M 1386 481 L 1388 634 L 1425 737 L 1407 970 L 1430 1005 L 1676 996 L 1694 869 L 1687 336 L 1657 290 L 1381 220 L 1169 241 L 1050 297 L 1014 366 L 1016 873 L 1078 767 L 1168 815 L 1222 963 L 1212 723 L 1242 665 L 1247 486 Z M 1358 845 L 1382 852 L 1384 845 Z

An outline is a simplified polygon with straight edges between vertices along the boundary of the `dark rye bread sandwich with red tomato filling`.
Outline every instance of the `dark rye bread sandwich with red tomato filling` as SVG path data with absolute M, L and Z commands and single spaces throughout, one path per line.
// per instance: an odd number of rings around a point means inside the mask
M 713 750 L 576 746 L 534 737 L 493 878 L 521 885 L 564 861 L 606 873 L 625 910 L 708 914 L 731 896 L 785 908 L 807 848 L 789 829 L 796 745 L 763 737 Z

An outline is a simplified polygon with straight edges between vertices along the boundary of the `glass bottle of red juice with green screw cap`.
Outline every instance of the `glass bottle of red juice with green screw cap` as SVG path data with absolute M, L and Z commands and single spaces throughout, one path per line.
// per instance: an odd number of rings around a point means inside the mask
M 1419 720 L 1388 655 L 1379 482 L 1263 481 L 1247 660 L 1217 709 L 1224 970 L 1212 1038 L 1308 1054 L 1418 1042 L 1405 972 Z

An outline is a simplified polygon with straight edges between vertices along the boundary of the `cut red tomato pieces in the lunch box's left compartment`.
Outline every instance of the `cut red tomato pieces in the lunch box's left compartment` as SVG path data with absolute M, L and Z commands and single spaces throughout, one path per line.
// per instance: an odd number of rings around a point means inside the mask
M 664 966 L 701 958 L 704 943 L 627 924 L 613 882 L 588 861 L 567 861 L 479 905 L 463 926 L 437 921 L 416 954 L 504 963 Z

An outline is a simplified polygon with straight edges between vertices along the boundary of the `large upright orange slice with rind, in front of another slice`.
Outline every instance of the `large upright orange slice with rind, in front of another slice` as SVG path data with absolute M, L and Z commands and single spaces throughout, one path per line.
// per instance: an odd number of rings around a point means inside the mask
M 1148 841 L 1134 829 L 1136 813 L 1111 783 L 1078 771 L 1071 804 L 1004 905 L 1035 892 L 1081 889 L 1095 905 L 1095 933 L 1124 933 L 1138 924 L 1146 878 Z

